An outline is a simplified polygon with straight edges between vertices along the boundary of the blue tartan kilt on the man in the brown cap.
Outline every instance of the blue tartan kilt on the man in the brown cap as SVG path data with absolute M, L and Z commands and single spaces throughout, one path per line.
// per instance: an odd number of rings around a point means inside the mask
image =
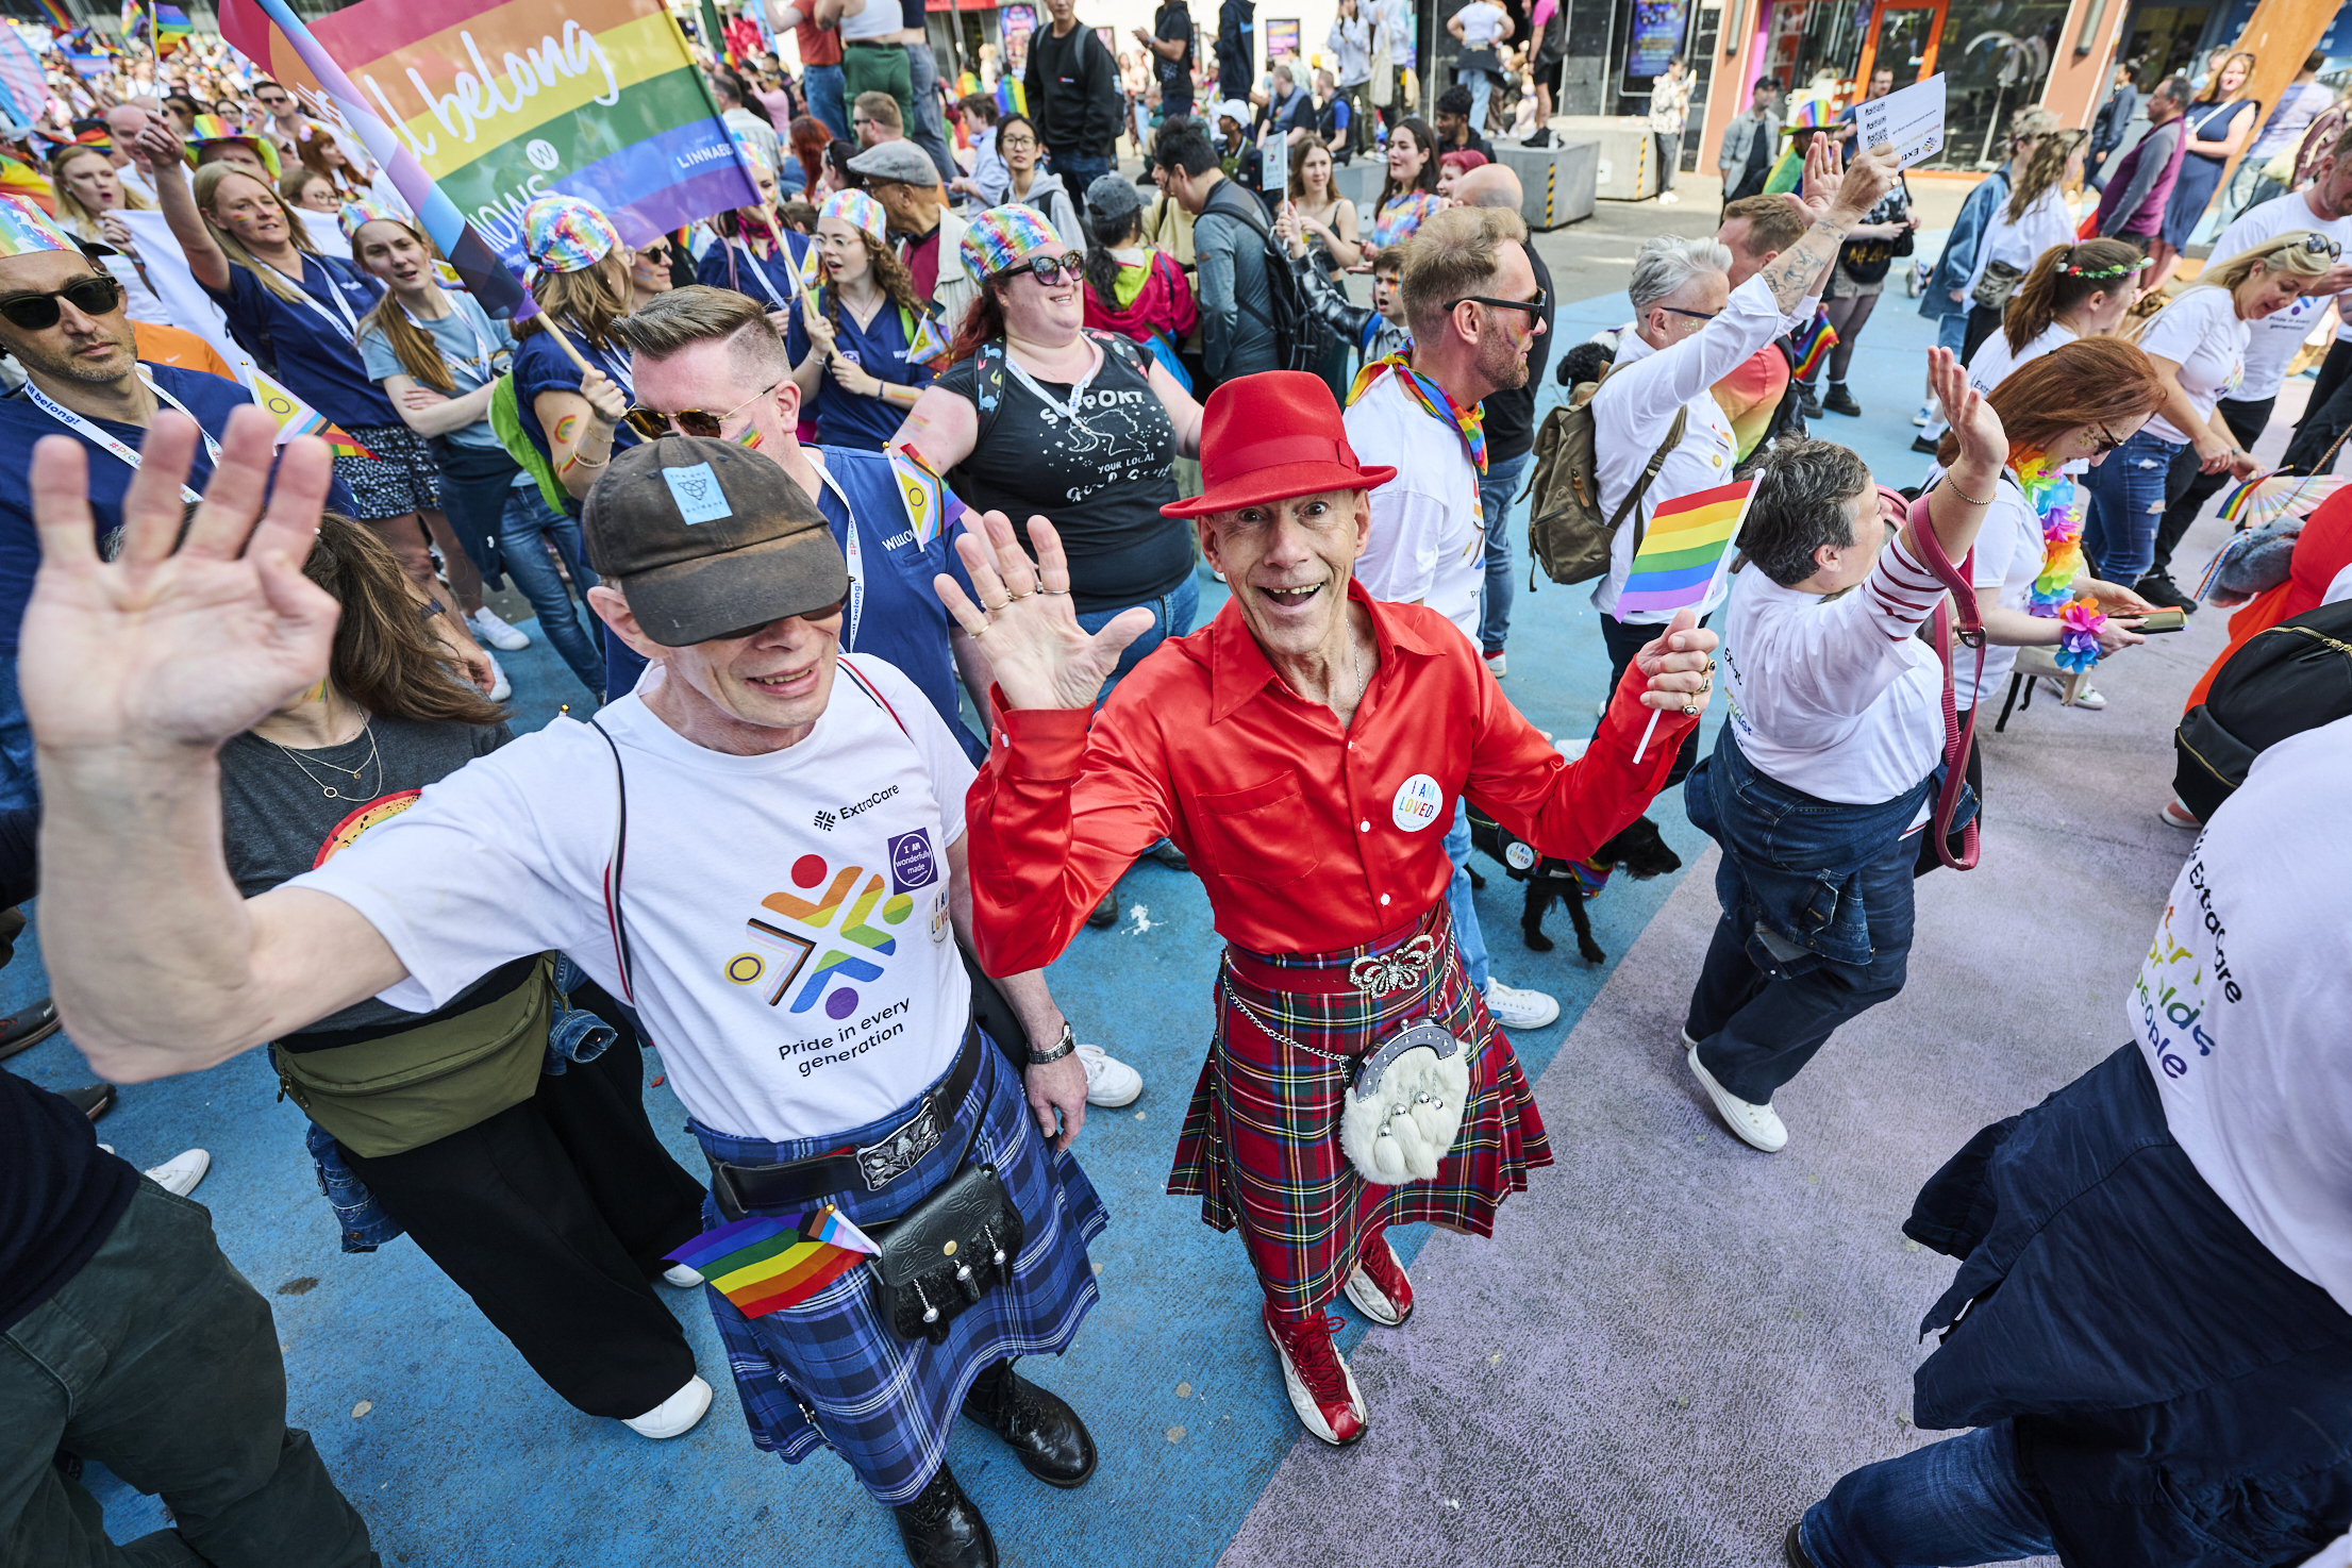
M 687 1124 L 713 1159 L 767 1166 L 875 1143 L 906 1124 L 922 1095 L 866 1126 L 800 1143 L 729 1138 Z M 948 1434 L 974 1378 L 1007 1356 L 1061 1354 L 1096 1302 L 1087 1244 L 1110 1220 L 1094 1182 L 1073 1154 L 1054 1154 L 1037 1133 L 1021 1079 L 993 1044 L 981 1044 L 981 1072 L 955 1124 L 976 1126 L 971 1164 L 995 1164 L 1028 1225 L 1011 1281 L 974 1302 L 943 1345 L 903 1340 L 889 1326 L 873 1262 L 781 1312 L 746 1319 L 715 1288 L 703 1288 L 750 1441 L 797 1465 L 833 1448 L 882 1507 L 913 1502 L 948 1458 Z M 941 1128 L 946 1133 L 946 1128 Z M 896 1220 L 955 1175 L 948 1164 L 960 1135 L 943 1135 L 913 1171 L 882 1192 L 840 1192 L 833 1201 L 851 1225 Z M 703 1199 L 703 1229 L 720 1222 Z

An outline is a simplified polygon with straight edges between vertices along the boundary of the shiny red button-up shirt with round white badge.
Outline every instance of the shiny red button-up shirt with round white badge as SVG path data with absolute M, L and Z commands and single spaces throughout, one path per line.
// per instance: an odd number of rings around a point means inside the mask
M 1642 816 L 1698 722 L 1661 715 L 1635 764 L 1649 710 L 1630 668 L 1592 748 L 1566 762 L 1444 616 L 1355 583 L 1348 595 L 1381 644 L 1348 729 L 1275 675 L 1232 604 L 1152 651 L 1098 715 L 1014 710 L 997 693 L 964 806 L 988 973 L 1051 964 L 1160 837 L 1190 858 L 1225 940 L 1359 947 L 1446 896 L 1458 797 L 1543 853 L 1583 860 Z

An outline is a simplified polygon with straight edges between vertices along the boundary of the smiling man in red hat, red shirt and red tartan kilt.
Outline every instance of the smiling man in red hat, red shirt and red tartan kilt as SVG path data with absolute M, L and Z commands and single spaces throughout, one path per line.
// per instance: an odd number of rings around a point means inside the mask
M 964 806 L 974 933 L 990 973 L 1049 964 L 1148 844 L 1185 851 L 1225 957 L 1169 1192 L 1242 1227 L 1291 1408 L 1317 1439 L 1352 1443 L 1364 1399 L 1324 1307 L 1345 1288 L 1371 1321 L 1404 1324 L 1414 1291 L 1383 1232 L 1489 1234 L 1526 1171 L 1552 1161 L 1454 952 L 1454 804 L 1468 795 L 1541 853 L 1590 856 L 1665 783 L 1708 701 L 1715 635 L 1689 616 L 1665 628 L 1566 762 L 1442 614 L 1352 581 L 1369 491 L 1395 470 L 1357 463 L 1319 378 L 1221 386 L 1202 475 L 1204 494 L 1164 510 L 1197 520 L 1232 597 L 1138 663 L 1101 715 L 1094 698 L 1148 614 L 1080 630 L 1044 517 L 1030 520 L 1035 562 L 1002 512 L 967 522 L 978 602 L 936 578 L 997 675 L 990 759 Z M 1646 710 L 1661 733 L 1637 764 Z

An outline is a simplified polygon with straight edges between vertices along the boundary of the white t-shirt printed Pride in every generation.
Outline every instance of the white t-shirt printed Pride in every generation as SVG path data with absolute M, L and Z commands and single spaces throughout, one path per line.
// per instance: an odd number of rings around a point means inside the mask
M 875 1121 L 948 1070 L 969 1020 L 948 844 L 971 762 L 915 682 L 842 663 L 882 701 L 835 672 L 809 736 L 762 757 L 694 745 L 642 696 L 597 712 L 628 778 L 633 999 L 687 1114 L 720 1133 Z M 555 719 L 287 886 L 383 933 L 409 971 L 381 992 L 400 1009 L 546 950 L 628 997 L 604 900 L 619 802 L 604 738 Z

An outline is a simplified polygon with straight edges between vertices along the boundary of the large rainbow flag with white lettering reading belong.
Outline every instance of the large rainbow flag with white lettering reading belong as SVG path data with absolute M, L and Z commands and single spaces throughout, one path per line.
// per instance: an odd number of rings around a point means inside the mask
M 593 202 L 628 244 L 760 200 L 661 0 L 360 0 L 315 24 L 287 0 L 221 0 L 219 14 L 238 52 L 336 106 L 501 315 L 522 289 L 485 261 L 522 270 L 522 212 L 541 195 Z

